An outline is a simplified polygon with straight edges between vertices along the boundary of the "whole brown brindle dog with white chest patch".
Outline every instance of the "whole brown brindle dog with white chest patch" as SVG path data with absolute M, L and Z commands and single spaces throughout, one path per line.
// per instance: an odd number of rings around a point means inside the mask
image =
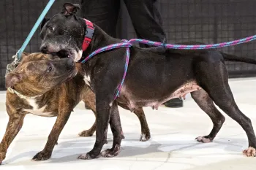
M 23 53 L 17 68 L 7 74 L 6 78 L 6 107 L 10 118 L 0 144 L 0 165 L 27 114 L 57 116 L 45 148 L 34 156 L 34 161 L 50 158 L 72 109 L 81 100 L 96 115 L 95 94 L 85 84 L 83 74 L 81 65 L 74 63 L 70 58 L 61 59 L 59 56 L 43 53 Z M 144 112 L 138 110 L 135 114 L 139 117 L 144 134 L 140 140 L 146 141 L 150 133 Z M 79 135 L 92 136 L 95 130 L 96 121 L 89 130 L 82 131 Z

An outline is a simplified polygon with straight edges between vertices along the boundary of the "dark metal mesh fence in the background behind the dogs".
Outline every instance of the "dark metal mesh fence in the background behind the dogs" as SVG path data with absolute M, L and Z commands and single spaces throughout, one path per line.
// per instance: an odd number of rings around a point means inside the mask
M 67 0 L 58 0 L 48 12 L 53 16 Z M 69 0 L 79 3 L 80 0 Z M 158 0 L 167 42 L 197 41 L 207 44 L 227 42 L 256 34 L 255 0 Z M 7 63 L 23 44 L 48 0 L 0 1 L 0 90 L 4 90 Z M 120 19 L 121 18 L 121 19 Z M 135 31 L 124 6 L 121 7 L 118 36 L 135 38 Z M 125 19 L 124 19 L 125 18 Z M 37 31 L 27 52 L 38 52 L 41 40 Z M 256 58 L 256 42 L 223 47 L 226 53 Z M 227 62 L 230 77 L 256 75 L 256 66 Z

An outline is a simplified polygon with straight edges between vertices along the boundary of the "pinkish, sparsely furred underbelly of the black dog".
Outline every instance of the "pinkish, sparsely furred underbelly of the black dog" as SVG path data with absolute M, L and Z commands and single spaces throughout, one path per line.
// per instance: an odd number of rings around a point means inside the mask
M 200 89 L 201 88 L 199 85 L 197 85 L 197 82 L 191 81 L 181 85 L 181 87 L 177 88 L 173 93 L 162 96 L 162 98 L 140 98 L 139 96 L 136 96 L 136 94 L 131 93 L 129 88 L 124 87 L 124 89 L 121 91 L 121 97 L 125 98 L 127 106 L 131 111 L 133 111 L 136 107 L 152 107 L 152 109 L 158 109 L 159 105 L 172 98 L 185 99 L 187 93 Z

